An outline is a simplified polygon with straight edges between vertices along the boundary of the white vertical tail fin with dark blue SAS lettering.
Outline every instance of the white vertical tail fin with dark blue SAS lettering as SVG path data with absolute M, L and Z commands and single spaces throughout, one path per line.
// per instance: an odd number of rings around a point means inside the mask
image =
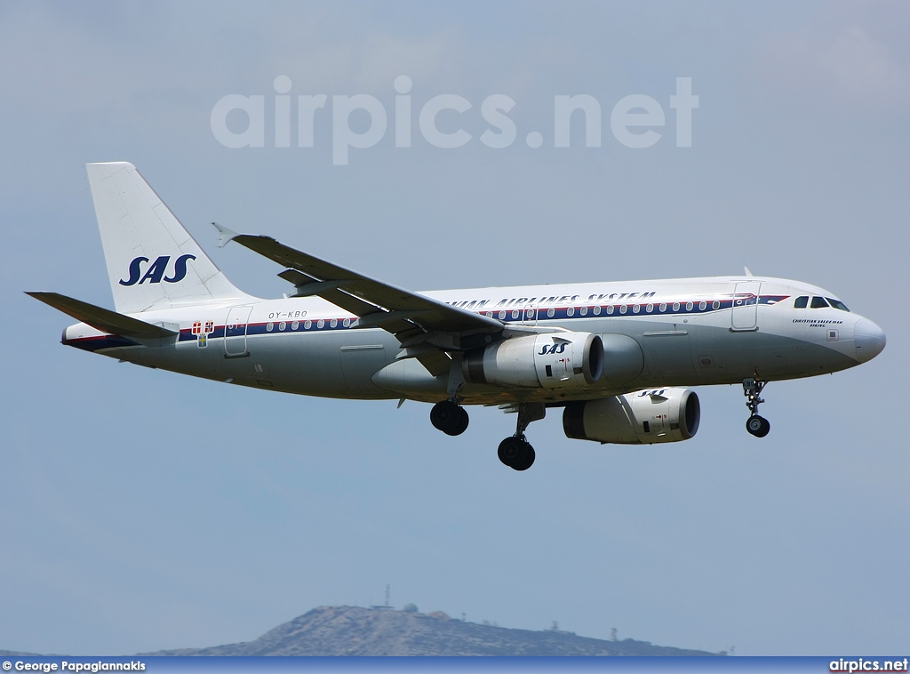
M 120 313 L 246 299 L 136 167 L 88 164 L 107 275 Z

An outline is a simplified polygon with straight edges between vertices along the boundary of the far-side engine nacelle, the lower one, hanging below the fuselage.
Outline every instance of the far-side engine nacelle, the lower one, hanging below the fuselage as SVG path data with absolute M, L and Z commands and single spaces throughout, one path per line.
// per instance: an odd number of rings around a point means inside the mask
M 653 444 L 688 440 L 698 432 L 702 404 L 691 389 L 649 389 L 569 403 L 565 434 L 599 443 Z

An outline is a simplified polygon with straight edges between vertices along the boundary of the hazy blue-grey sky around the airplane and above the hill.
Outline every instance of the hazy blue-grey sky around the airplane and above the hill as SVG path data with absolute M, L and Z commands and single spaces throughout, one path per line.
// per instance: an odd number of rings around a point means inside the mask
M 391 600 L 516 628 L 749 655 L 904 652 L 905 222 L 910 10 L 896 2 L 62 3 L 0 6 L 5 127 L 0 648 L 128 654 L 255 638 L 318 605 Z M 313 148 L 277 148 L 278 76 L 325 94 Z M 411 148 L 392 133 L 407 75 Z M 691 77 L 691 148 L 670 96 Z M 222 97 L 263 96 L 263 148 L 212 132 Z M 389 111 L 332 163 L 331 100 Z M 461 148 L 432 147 L 431 97 Z M 518 135 L 480 142 L 486 97 Z M 602 107 L 602 145 L 553 148 L 553 101 Z M 611 133 L 652 97 L 662 138 Z M 237 118 L 229 123 L 237 124 Z M 242 121 L 242 120 L 241 120 Z M 366 117 L 352 116 L 362 130 Z M 361 125 L 361 126 L 357 126 Z M 538 131 L 541 148 L 526 135 Z M 270 136 L 272 135 L 272 136 Z M 272 138 L 269 141 L 269 138 Z M 533 469 L 459 438 L 429 406 L 248 391 L 63 348 L 69 320 L 22 291 L 111 307 L 84 165 L 126 160 L 228 278 L 266 297 L 281 271 L 211 220 L 416 290 L 738 273 L 812 282 L 879 323 L 888 348 L 845 373 L 699 391 L 682 444 L 568 440 L 531 426 Z

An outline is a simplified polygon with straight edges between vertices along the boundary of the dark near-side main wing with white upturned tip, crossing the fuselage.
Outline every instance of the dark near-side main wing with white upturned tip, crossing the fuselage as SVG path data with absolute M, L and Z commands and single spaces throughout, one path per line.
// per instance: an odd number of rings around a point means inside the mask
M 238 234 L 212 224 L 221 233 L 219 245 L 237 241 L 288 267 L 278 276 L 294 284 L 295 297 L 321 297 L 357 316 L 357 327 L 391 332 L 404 349 L 402 357 L 417 358 L 434 375 L 449 372 L 446 351 L 470 348 L 473 342 L 481 343 L 503 329 L 502 322 L 494 318 L 370 279 L 271 237 Z

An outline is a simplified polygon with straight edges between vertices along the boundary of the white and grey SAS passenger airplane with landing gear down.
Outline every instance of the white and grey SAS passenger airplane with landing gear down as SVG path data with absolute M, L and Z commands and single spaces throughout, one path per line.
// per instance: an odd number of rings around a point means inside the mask
M 692 438 L 692 386 L 743 385 L 756 437 L 766 383 L 875 358 L 885 332 L 834 293 L 799 281 L 722 276 L 412 292 L 212 223 L 284 267 L 293 291 L 238 290 L 127 162 L 87 165 L 115 311 L 28 292 L 75 318 L 62 342 L 120 361 L 268 391 L 432 403 L 460 435 L 465 405 L 517 413 L 498 447 L 534 463 L 528 425 L 562 408 L 570 438 L 656 444 Z M 288 288 L 288 290 L 290 290 Z

